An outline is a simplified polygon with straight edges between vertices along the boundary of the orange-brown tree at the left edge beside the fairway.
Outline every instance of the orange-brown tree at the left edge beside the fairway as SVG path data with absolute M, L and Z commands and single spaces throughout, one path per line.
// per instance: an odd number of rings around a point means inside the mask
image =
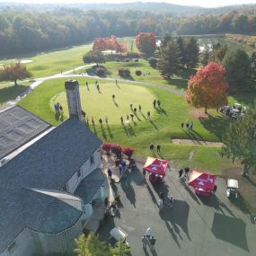
M 17 80 L 23 80 L 31 76 L 31 72 L 21 62 L 5 65 L 0 69 L 0 81 L 13 81 L 15 85 L 18 85 Z

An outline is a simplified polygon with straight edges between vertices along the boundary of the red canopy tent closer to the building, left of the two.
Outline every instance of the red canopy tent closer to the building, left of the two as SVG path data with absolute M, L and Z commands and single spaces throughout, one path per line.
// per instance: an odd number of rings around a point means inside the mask
M 153 157 L 147 157 L 143 169 L 150 172 L 150 181 L 163 181 L 163 177 L 167 171 L 168 161 Z

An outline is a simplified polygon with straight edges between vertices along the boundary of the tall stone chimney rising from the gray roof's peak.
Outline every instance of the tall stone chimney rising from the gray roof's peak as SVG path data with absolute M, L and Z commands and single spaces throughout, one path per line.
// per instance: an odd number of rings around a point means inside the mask
M 65 82 L 65 89 L 69 117 L 76 116 L 82 120 L 79 84 L 77 80 L 67 80 Z

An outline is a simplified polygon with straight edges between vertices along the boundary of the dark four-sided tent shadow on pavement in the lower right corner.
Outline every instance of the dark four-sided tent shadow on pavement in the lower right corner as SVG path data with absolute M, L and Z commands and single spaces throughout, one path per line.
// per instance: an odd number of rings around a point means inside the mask
M 246 225 L 242 219 L 215 213 L 211 231 L 217 239 L 249 252 L 245 229 Z

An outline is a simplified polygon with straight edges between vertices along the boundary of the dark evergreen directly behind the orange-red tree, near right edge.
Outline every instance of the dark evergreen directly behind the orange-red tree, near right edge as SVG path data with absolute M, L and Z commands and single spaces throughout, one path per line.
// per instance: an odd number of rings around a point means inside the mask
M 252 90 L 252 62 L 243 49 L 231 49 L 223 64 L 231 92 Z

